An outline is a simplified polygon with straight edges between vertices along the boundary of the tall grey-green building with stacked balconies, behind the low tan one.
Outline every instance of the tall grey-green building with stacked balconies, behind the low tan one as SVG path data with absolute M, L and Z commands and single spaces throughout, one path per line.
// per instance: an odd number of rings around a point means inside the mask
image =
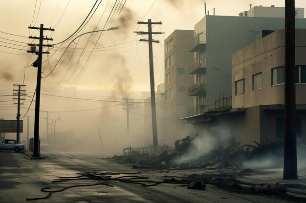
M 205 16 L 197 22 L 195 36 L 189 42 L 189 52 L 194 53 L 195 61 L 188 74 L 195 79 L 188 87 L 188 95 L 194 97 L 194 106 L 188 108 L 184 119 L 220 108 L 223 103 L 231 106 L 232 53 L 275 30 L 284 29 L 284 18 L 260 17 L 261 12 L 257 11 L 262 9 L 273 13 L 276 8 L 254 7 L 248 11 L 254 11 L 256 17 Z M 304 8 L 297 10 L 296 28 L 306 28 Z

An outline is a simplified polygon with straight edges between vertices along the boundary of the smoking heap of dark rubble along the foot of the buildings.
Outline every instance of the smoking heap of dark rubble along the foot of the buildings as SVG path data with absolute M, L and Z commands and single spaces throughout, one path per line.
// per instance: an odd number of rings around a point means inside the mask
M 114 155 L 111 159 L 118 163 L 133 164 L 137 169 L 219 169 L 219 168 L 241 168 L 245 160 L 251 160 L 267 153 L 279 154 L 282 151 L 281 142 L 262 142 L 261 144 L 253 141 L 254 145 L 240 144 L 219 145 L 218 148 L 209 150 L 205 154 L 192 154 L 195 148 L 194 139 L 197 137 L 187 136 L 177 140 L 175 148 L 165 148 L 160 146 L 160 153 L 155 154 L 151 151 L 139 152 L 129 148 L 131 153 L 126 156 Z M 226 147 L 224 147 L 226 146 Z M 188 156 L 186 156 L 188 154 Z

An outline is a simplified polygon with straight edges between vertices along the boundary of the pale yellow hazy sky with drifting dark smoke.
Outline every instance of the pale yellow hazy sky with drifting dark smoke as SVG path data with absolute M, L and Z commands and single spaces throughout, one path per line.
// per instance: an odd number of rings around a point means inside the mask
M 50 55 L 43 55 L 43 61 L 45 61 L 43 77 L 54 69 L 57 62 L 58 64 L 52 74 L 42 78 L 42 93 L 71 96 L 75 95 L 77 88 L 78 97 L 106 100 L 134 97 L 135 101 L 139 101 L 137 98 L 140 98 L 140 94 L 135 92 L 150 91 L 150 78 L 148 44 L 139 42 L 142 37 L 133 33 L 133 31 L 147 31 L 147 26 L 138 25 L 137 21 L 147 21 L 151 18 L 153 21 L 163 23 L 153 27 L 154 32 L 165 32 L 164 35 L 153 37 L 160 40 L 160 43 L 153 45 L 156 88 L 164 81 L 164 39 L 175 29 L 193 30 L 194 25 L 204 17 L 204 2 L 211 15 L 215 8 L 216 15 L 220 16 L 238 16 L 240 12 L 249 10 L 250 3 L 252 6 L 284 7 L 284 0 L 126 0 L 119 13 L 124 1 L 98 0 L 97 4 L 101 2 L 99 7 L 97 8 L 96 4 L 94 9 L 97 9 L 94 15 L 78 35 L 94 29 L 103 29 L 107 19 L 109 21 L 106 28 L 117 26 L 118 30 L 104 32 L 100 37 L 100 33 L 81 37 L 80 40 L 75 41 L 76 43 L 71 44 L 65 55 L 63 53 L 69 42 L 64 43 L 60 48 L 56 45 L 50 50 Z M 28 95 L 33 95 L 37 69 L 30 65 L 36 59 L 36 55 L 28 54 L 26 50 L 27 43 L 32 42 L 28 36 L 39 36 L 39 32 L 29 30 L 30 24 L 39 26 L 43 23 L 45 27 L 52 28 L 55 26 L 54 32 L 45 31 L 44 35 L 54 39 L 49 41 L 49 44 L 61 42 L 77 30 L 95 2 L 96 0 L 0 0 L 0 95 L 11 94 L 12 84 L 22 83 L 27 85 Z M 306 7 L 306 0 L 295 0 L 295 2 L 296 7 Z M 113 5 L 115 5 L 115 13 L 109 16 Z M 97 49 L 92 52 L 94 46 Z M 57 48 L 58 51 L 54 52 Z M 83 48 L 86 49 L 82 54 Z M 71 55 L 73 51 L 75 52 Z M 52 55 L 53 53 L 55 54 Z M 59 60 L 62 55 L 62 59 Z M 49 60 L 46 60 L 48 57 Z M 30 67 L 26 67 L 27 65 Z M 100 95 L 100 97 L 93 95 Z M 11 96 L 9 99 L 11 100 Z M 7 97 L 0 97 L 0 118 L 15 119 L 16 106 L 13 101 L 6 102 L 6 100 L 8 100 Z M 25 114 L 30 101 L 31 98 L 27 97 L 21 111 L 22 115 Z M 85 101 L 73 103 L 71 100 L 60 100 L 42 95 L 41 110 L 88 110 L 116 104 L 117 106 L 101 111 L 62 112 L 49 115 L 52 119 L 61 116 L 66 121 L 59 123 L 59 128 L 63 129 L 65 126 L 66 130 L 74 129 L 80 136 L 89 134 L 90 130 L 96 136 L 97 128 L 104 125 L 112 129 L 108 132 L 110 137 L 114 137 L 118 134 L 115 129 L 118 126 L 125 126 L 126 122 L 126 114 L 120 103 Z M 31 108 L 34 109 L 34 105 Z M 31 122 L 33 122 L 33 114 L 33 110 L 28 113 L 31 116 Z M 41 130 L 44 130 L 46 115 L 41 114 Z M 106 114 L 108 117 L 104 120 L 103 115 Z M 110 114 L 112 114 L 111 118 Z M 143 119 L 143 116 L 149 115 L 141 116 L 134 119 Z M 99 120 L 101 117 L 103 119 Z M 133 118 L 132 115 L 131 118 Z M 109 122 L 111 119 L 113 122 Z M 31 126 L 33 123 L 30 123 L 30 128 Z M 80 128 L 76 129 L 76 127 Z M 114 140 L 116 139 L 112 140 L 113 144 L 117 145 Z M 126 143 L 123 144 L 125 145 Z

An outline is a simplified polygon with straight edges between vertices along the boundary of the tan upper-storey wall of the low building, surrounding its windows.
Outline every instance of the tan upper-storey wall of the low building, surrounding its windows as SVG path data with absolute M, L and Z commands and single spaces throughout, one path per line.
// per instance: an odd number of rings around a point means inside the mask
M 296 65 L 306 65 L 306 30 L 296 30 Z M 276 31 L 233 54 L 233 108 L 284 104 L 284 85 L 272 86 L 272 69 L 284 66 L 284 30 Z M 253 75 L 262 72 L 262 89 L 253 91 Z M 235 95 L 235 81 L 244 78 L 244 93 Z M 306 85 L 296 85 L 296 103 L 306 104 Z

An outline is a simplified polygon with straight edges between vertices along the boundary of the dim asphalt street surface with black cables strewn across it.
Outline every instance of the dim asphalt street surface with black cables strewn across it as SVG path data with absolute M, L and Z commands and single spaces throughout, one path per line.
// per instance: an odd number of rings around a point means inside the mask
M 230 192 L 214 185 L 206 185 L 206 190 L 191 190 L 186 186 L 160 184 L 143 187 L 137 184 L 119 181 L 105 181 L 107 185 L 68 188 L 52 193 L 44 200 L 26 201 L 26 198 L 45 197 L 43 187 L 61 189 L 71 185 L 101 183 L 96 180 L 76 180 L 51 183 L 59 177 L 77 176 L 76 173 L 88 172 L 141 172 L 137 176 L 146 176 L 150 180 L 162 181 L 174 177 L 180 179 L 189 171 L 141 171 L 131 165 L 109 163 L 99 155 L 84 152 L 42 152 L 45 159 L 29 159 L 23 153 L 0 151 L 0 203 L 285 203 L 273 196 L 252 195 Z M 124 174 L 122 174 L 124 175 Z M 294 201 L 291 201 L 294 202 Z

